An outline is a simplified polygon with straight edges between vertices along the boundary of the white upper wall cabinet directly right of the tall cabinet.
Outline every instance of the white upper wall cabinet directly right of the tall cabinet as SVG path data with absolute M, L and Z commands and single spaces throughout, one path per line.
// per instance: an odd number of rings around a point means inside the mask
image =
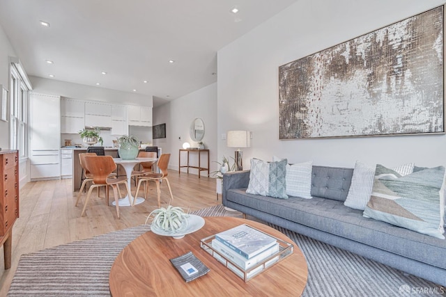
M 61 99 L 61 133 L 77 134 L 85 127 L 85 102 Z

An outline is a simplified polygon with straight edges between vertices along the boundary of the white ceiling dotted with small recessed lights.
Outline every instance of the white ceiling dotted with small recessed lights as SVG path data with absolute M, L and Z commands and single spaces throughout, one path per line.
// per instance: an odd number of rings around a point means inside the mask
M 28 75 L 157 106 L 217 81 L 217 51 L 296 1 L 0 0 L 0 24 Z

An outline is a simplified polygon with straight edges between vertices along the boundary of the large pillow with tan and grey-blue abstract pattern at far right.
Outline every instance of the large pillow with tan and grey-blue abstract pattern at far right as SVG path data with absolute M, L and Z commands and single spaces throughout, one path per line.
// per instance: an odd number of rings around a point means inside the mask
M 364 216 L 445 239 L 444 189 L 443 166 L 402 177 L 398 172 L 378 164 Z

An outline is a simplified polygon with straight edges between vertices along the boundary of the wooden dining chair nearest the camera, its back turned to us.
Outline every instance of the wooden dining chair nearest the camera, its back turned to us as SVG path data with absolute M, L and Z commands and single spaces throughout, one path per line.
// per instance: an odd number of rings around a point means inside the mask
M 84 216 L 86 209 L 86 204 L 89 202 L 91 192 L 93 188 L 99 186 L 106 186 L 107 188 L 111 186 L 113 188 L 114 200 L 116 202 L 116 214 L 119 218 L 119 198 L 118 185 L 125 184 L 127 189 L 127 194 L 130 194 L 130 188 L 128 188 L 126 177 L 114 177 L 110 178 L 109 175 L 116 169 L 116 163 L 114 163 L 112 156 L 85 156 L 85 166 L 86 169 L 93 175 L 93 184 L 90 186 L 89 193 L 86 195 L 86 200 L 84 203 L 84 208 L 82 209 L 81 216 Z M 105 203 L 109 205 L 109 195 L 106 195 Z M 77 203 L 76 203 L 77 204 Z

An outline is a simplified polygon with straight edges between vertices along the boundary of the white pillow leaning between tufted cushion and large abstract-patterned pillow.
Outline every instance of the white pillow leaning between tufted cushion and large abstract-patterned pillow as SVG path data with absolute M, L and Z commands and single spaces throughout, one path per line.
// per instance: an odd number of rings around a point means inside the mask
M 344 201 L 346 207 L 364 210 L 374 186 L 375 167 L 356 161 L 351 186 Z

